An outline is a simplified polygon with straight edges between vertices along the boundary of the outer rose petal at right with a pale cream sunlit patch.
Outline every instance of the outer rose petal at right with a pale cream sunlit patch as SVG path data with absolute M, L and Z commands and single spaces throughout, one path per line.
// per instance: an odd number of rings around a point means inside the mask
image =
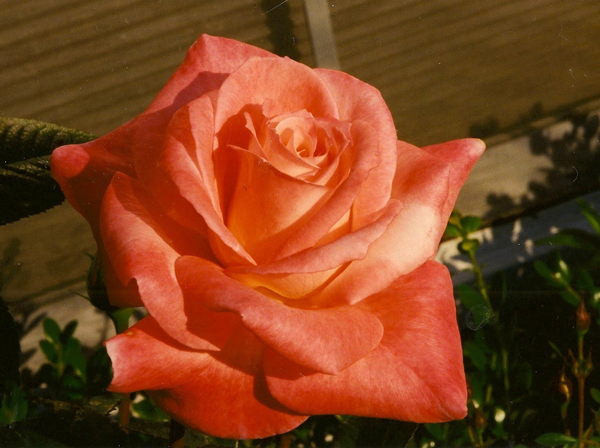
M 392 197 L 402 212 L 369 248 L 321 292 L 329 300 L 355 303 L 381 291 L 435 255 L 445 221 L 449 166 L 408 143 L 398 142 Z

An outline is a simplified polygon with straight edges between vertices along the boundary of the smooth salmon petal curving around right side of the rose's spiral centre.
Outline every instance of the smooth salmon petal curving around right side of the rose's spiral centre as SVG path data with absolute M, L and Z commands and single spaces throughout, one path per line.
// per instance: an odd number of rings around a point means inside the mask
M 396 167 L 396 127 L 381 93 L 369 84 L 336 70 L 315 69 L 327 84 L 341 121 L 365 121 L 373 126 L 379 141 L 380 163 L 363 184 L 352 206 L 352 228 L 371 222 L 390 198 Z

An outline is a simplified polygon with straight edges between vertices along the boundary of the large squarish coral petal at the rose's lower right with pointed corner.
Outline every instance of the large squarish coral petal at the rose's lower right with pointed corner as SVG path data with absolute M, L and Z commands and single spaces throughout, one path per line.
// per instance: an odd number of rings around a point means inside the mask
M 358 306 L 383 323 L 379 346 L 337 375 L 311 372 L 267 351 L 265 375 L 273 396 L 311 415 L 463 418 L 467 388 L 447 269 L 428 261 Z

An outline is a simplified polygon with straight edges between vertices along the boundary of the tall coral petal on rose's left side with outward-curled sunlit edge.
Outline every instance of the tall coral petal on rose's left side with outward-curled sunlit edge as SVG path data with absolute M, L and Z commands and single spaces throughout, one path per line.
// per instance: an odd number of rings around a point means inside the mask
M 221 332 L 226 335 L 231 328 L 228 316 L 195 309 L 189 319 L 186 306 L 193 304 L 184 302 L 175 277 L 181 254 L 212 258 L 206 238 L 170 220 L 139 181 L 120 173 L 106 190 L 100 230 L 118 280 L 123 285 L 135 280 L 142 302 L 163 330 L 188 347 L 218 350 L 225 339 Z M 215 328 L 220 330 L 214 333 Z

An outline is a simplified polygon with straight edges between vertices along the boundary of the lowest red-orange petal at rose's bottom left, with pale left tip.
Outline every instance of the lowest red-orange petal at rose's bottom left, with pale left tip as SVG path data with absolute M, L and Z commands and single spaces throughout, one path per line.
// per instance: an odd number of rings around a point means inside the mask
M 262 374 L 263 346 L 241 326 L 222 352 L 209 354 L 178 344 L 147 317 L 106 348 L 114 370 L 110 390 L 146 389 L 191 428 L 248 439 L 287 432 L 306 420 L 273 399 Z

